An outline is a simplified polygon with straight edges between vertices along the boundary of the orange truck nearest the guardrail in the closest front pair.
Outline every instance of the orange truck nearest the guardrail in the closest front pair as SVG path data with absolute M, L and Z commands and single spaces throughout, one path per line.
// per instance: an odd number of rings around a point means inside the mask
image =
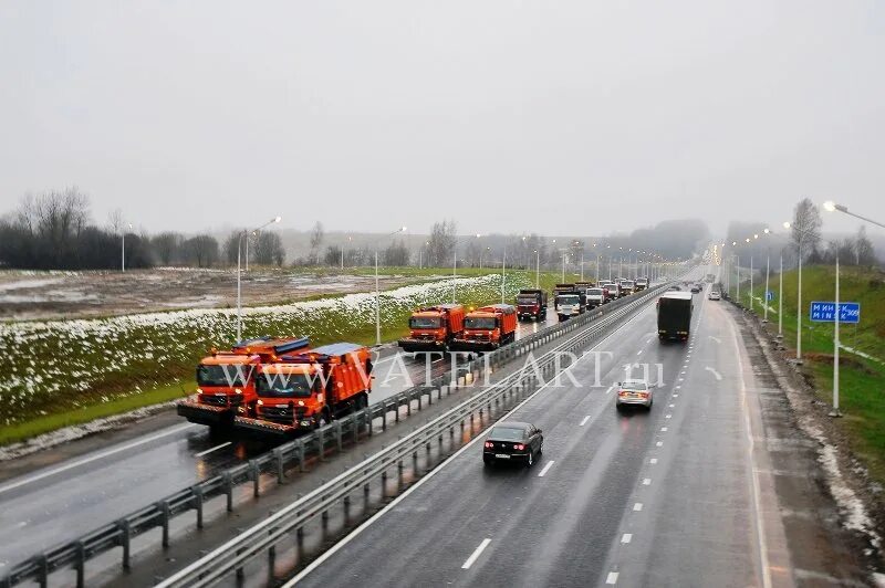
M 282 356 L 259 366 L 254 416 L 238 416 L 233 424 L 280 435 L 313 430 L 367 407 L 371 375 L 371 350 L 353 343 Z

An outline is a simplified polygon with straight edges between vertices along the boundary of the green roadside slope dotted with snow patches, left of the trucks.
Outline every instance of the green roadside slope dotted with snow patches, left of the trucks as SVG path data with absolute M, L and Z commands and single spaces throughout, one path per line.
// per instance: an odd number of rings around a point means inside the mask
M 384 269 L 387 275 L 445 276 L 444 269 Z M 373 270 L 374 272 L 374 270 Z M 541 274 L 550 290 L 561 275 Z M 569 276 L 566 275 L 566 279 Z M 534 285 L 533 272 L 508 272 L 506 300 Z M 500 274 L 466 269 L 444 279 L 383 292 L 382 339 L 406 332 L 421 304 L 456 298 L 465 305 L 500 302 Z M 249 307 L 243 337 L 306 335 L 314 345 L 375 343 L 373 294 Z M 0 324 L 4 353 L 0 378 L 0 444 L 179 398 L 194 390 L 194 368 L 211 347 L 225 348 L 236 333 L 230 309 L 192 309 L 118 317 Z

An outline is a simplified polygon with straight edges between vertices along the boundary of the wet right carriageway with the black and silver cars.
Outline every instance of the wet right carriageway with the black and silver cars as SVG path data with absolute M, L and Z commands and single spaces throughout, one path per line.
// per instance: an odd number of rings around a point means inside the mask
M 485 468 L 479 435 L 290 585 L 789 586 L 753 370 L 726 303 L 695 301 L 687 345 L 649 304 L 595 347 L 600 386 L 585 356 L 508 417 L 544 431 L 532 469 Z M 615 410 L 628 364 L 662 368 L 649 412 Z

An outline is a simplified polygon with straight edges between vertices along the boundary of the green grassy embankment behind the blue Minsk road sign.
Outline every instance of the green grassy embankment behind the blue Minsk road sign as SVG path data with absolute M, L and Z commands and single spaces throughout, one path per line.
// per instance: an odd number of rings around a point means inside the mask
M 784 345 L 795 353 L 798 273 L 783 274 Z M 764 280 L 764 275 L 762 275 Z M 812 323 L 811 301 L 835 300 L 835 267 L 802 269 L 802 369 L 813 379 L 820 400 L 833 401 L 833 332 L 831 323 Z M 747 284 L 745 284 L 747 285 Z M 741 288 L 741 302 L 749 305 L 748 290 Z M 778 279 L 772 276 L 769 290 L 777 293 Z M 764 284 L 753 284 L 754 311 L 760 306 Z M 731 294 L 735 295 L 732 288 Z M 779 294 L 779 293 L 778 293 Z M 843 266 L 840 272 L 842 302 L 861 303 L 857 326 L 841 325 L 840 408 L 844 418 L 839 426 L 851 439 L 852 449 L 870 468 L 871 474 L 885 485 L 885 364 L 850 353 L 845 346 L 885 361 L 885 273 L 877 270 Z M 778 332 L 778 301 L 769 309 L 769 329 Z

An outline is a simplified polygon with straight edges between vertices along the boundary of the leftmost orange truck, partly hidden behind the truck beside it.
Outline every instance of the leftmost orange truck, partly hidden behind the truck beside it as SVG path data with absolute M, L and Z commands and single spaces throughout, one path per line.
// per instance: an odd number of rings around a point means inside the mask
M 256 368 L 309 347 L 308 337 L 261 337 L 241 340 L 229 351 L 214 351 L 197 365 L 197 393 L 178 402 L 178 414 L 198 424 L 230 426 L 236 414 L 251 412 L 258 400 Z

